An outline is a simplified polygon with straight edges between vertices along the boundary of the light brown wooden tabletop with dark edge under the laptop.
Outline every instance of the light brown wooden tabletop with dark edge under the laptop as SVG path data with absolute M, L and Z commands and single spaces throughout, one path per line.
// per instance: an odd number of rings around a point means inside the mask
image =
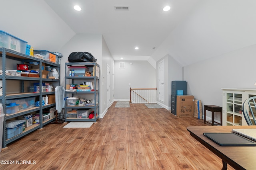
M 224 162 L 235 169 L 256 169 L 255 146 L 220 146 L 203 135 L 204 132 L 232 132 L 232 129 L 256 129 L 256 126 L 190 126 L 190 135 L 206 148 L 219 156 Z M 202 149 L 202 152 L 204 150 Z

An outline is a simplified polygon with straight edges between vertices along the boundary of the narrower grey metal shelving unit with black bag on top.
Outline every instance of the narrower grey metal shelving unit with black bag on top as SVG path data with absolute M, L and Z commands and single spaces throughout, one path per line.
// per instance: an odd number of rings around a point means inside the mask
M 86 66 L 90 71 L 94 73 L 94 76 L 69 76 L 67 68 L 68 66 Z M 89 95 L 93 95 L 94 98 L 94 106 L 65 106 L 66 113 L 66 121 L 94 121 L 99 118 L 100 113 L 100 79 L 99 76 L 96 76 L 96 67 L 100 68 L 99 64 L 96 62 L 76 62 L 76 63 L 66 63 L 65 64 L 65 87 L 67 84 L 76 84 L 77 82 L 82 83 L 85 81 L 92 81 L 94 85 L 94 91 L 85 91 L 85 92 L 67 92 L 65 93 L 66 97 L 86 97 Z M 99 75 L 99 73 L 97 74 Z M 69 81 L 70 83 L 68 83 Z M 92 109 L 94 110 L 94 117 L 92 119 L 89 118 L 71 118 L 68 117 L 67 111 L 73 109 Z

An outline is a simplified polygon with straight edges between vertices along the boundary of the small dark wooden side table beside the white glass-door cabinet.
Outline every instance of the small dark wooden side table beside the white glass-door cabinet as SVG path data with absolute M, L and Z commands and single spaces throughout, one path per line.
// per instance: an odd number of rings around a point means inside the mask
M 212 120 L 206 120 L 206 110 L 212 112 Z M 214 121 L 214 112 L 220 112 L 220 123 Z M 215 105 L 204 105 L 204 124 L 210 123 L 213 125 L 222 125 L 222 107 Z

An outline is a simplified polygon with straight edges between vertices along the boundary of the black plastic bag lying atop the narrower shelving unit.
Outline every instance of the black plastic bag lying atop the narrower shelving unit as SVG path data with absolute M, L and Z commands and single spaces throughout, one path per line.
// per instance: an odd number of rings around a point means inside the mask
M 97 60 L 88 52 L 72 52 L 68 56 L 68 62 L 96 62 Z

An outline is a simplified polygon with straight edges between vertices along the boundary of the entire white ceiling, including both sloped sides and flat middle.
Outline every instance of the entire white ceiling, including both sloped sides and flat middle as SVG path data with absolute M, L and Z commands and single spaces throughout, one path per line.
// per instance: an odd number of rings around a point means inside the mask
M 49 51 L 77 33 L 102 34 L 115 60 L 169 54 L 186 66 L 256 43 L 255 0 L 8 0 L 1 7 L 1 30 Z

